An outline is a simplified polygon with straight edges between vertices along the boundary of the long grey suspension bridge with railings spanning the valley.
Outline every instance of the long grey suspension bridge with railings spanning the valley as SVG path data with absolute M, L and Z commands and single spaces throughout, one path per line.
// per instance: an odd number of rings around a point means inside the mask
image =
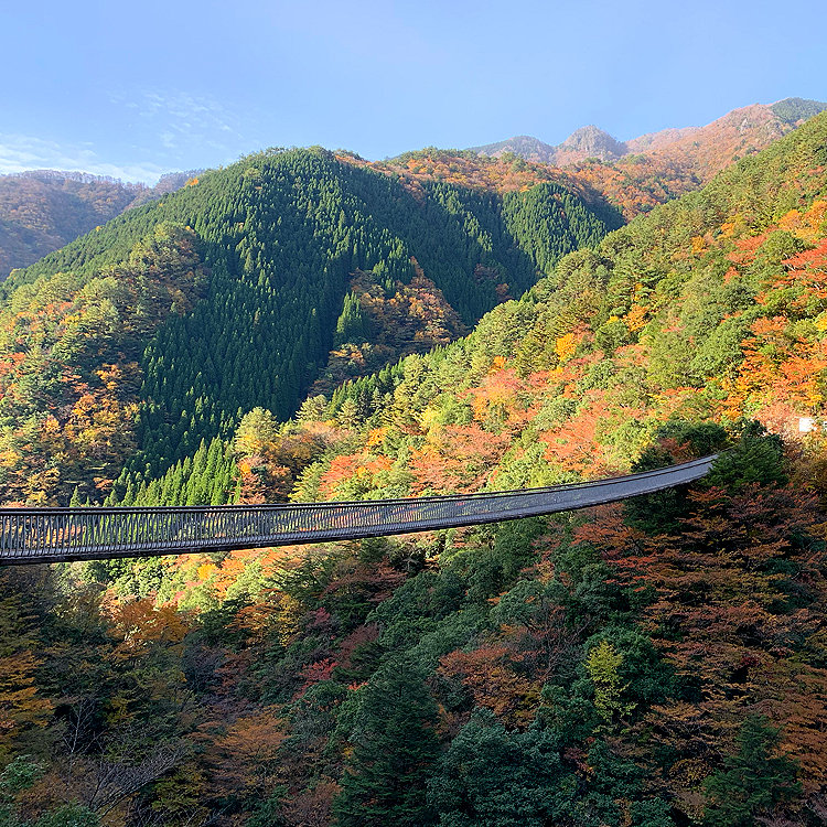
M 0 508 L 0 565 L 232 551 L 498 523 L 588 508 L 684 485 L 707 474 L 717 455 L 572 485 L 402 500 Z

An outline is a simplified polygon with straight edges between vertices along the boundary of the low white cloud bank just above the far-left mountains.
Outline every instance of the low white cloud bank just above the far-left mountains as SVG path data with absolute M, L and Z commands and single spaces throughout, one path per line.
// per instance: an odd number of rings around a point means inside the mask
M 146 182 L 153 182 L 168 171 L 149 161 L 123 164 L 105 161 L 88 143 L 66 146 L 28 135 L 0 133 L 0 173 L 37 169 L 73 170 Z

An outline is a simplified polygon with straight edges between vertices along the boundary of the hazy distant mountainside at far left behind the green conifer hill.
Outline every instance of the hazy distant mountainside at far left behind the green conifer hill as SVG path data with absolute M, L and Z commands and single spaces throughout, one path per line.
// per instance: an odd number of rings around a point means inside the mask
M 55 170 L 0 175 L 0 280 L 197 174 L 172 172 L 154 186 Z

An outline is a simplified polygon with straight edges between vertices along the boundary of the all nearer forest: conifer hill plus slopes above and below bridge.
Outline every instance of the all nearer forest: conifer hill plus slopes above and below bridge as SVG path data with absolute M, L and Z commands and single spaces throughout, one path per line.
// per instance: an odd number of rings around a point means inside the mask
M 827 442 L 798 432 L 827 394 L 827 115 L 609 235 L 587 204 L 279 152 L 15 277 L 8 497 L 358 500 L 721 457 L 550 518 L 0 571 L 0 824 L 827 820 Z M 291 341 L 288 300 L 292 341 L 320 330 L 292 405 L 257 347 Z M 419 347 L 393 335 L 414 318 Z M 387 364 L 341 383 L 367 344 Z

